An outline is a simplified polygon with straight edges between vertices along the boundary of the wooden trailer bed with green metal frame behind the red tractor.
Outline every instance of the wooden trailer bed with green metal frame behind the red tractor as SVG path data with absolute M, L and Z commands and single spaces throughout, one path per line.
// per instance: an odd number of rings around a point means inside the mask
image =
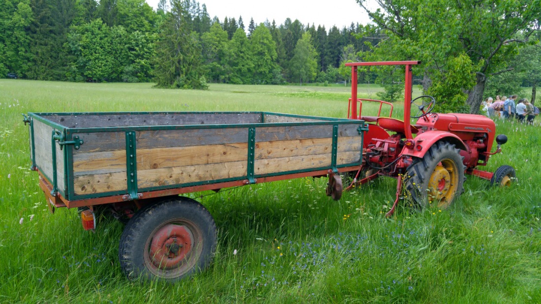
M 29 113 L 32 168 L 80 207 L 354 170 L 364 121 L 269 112 Z

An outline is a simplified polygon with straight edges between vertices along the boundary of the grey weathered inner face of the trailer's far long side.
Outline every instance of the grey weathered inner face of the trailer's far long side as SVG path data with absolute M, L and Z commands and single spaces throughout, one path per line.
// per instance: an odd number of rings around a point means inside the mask
M 260 113 L 173 113 L 47 116 L 70 128 L 261 123 Z

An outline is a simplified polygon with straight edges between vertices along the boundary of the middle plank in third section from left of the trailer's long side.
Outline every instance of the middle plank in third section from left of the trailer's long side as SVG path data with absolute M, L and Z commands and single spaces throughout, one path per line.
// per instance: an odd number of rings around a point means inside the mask
M 260 141 L 255 144 L 255 159 L 326 154 L 332 151 L 332 138 Z

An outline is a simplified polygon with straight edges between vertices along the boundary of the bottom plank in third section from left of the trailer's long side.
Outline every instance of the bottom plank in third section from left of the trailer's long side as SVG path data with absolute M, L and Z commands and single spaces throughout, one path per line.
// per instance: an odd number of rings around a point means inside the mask
M 255 160 L 256 175 L 330 167 L 331 153 Z

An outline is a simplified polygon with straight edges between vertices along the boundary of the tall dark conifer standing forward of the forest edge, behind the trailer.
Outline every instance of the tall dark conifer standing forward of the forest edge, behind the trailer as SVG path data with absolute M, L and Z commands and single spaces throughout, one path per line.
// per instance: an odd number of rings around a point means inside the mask
M 154 75 L 158 87 L 207 89 L 199 37 L 187 18 L 186 1 L 171 1 L 156 43 Z

